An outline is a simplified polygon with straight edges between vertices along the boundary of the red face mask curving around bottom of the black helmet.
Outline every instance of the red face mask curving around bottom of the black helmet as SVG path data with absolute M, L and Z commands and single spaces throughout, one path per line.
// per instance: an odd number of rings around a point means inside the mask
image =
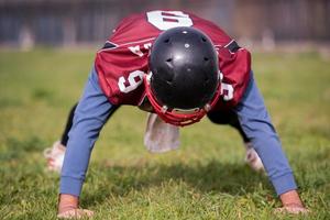
M 151 80 L 152 73 L 150 72 L 148 75 L 144 75 L 144 86 L 146 96 L 148 98 L 148 101 L 151 102 L 152 107 L 154 108 L 155 112 L 158 114 L 161 119 L 163 119 L 166 123 L 170 123 L 173 125 L 177 127 L 186 127 L 193 123 L 196 123 L 207 114 L 208 111 L 212 109 L 212 107 L 217 103 L 219 97 L 220 97 L 220 86 L 221 86 L 221 73 L 219 72 L 219 82 L 216 90 L 216 94 L 212 98 L 212 100 L 207 103 L 204 108 L 196 108 L 196 109 L 169 109 L 166 106 L 161 106 L 156 98 L 154 97 L 151 87 L 150 87 L 150 80 Z

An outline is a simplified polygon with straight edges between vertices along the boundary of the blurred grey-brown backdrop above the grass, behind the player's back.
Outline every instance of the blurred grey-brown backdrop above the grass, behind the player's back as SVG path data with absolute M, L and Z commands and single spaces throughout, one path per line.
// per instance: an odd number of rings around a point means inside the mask
M 246 47 L 330 42 L 330 0 L 0 0 L 0 46 L 100 45 L 122 18 L 152 9 L 194 12 Z

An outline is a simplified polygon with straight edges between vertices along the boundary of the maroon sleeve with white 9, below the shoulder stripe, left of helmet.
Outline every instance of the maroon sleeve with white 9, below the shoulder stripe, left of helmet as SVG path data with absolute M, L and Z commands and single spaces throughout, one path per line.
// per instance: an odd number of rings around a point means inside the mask
M 127 47 L 101 50 L 95 63 L 100 87 L 112 105 L 139 103 L 144 92 L 146 57 L 136 56 Z

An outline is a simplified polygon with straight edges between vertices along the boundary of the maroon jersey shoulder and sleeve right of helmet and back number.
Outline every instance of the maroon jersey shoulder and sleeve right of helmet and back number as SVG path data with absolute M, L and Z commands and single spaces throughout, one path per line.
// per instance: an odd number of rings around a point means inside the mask
M 216 108 L 237 106 L 248 87 L 251 72 L 251 54 L 242 48 L 222 29 L 210 21 L 195 15 L 195 26 L 204 31 L 213 42 L 218 53 L 219 69 L 222 73 L 221 99 Z

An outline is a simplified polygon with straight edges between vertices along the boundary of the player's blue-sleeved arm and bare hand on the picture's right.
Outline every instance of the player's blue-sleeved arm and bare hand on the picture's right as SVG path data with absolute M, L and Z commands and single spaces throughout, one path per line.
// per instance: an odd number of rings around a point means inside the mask
M 271 122 L 253 75 L 251 75 L 249 87 L 235 111 L 243 131 L 261 157 L 283 206 L 287 209 L 306 210 L 296 191 L 297 185 L 293 170 L 282 150 L 278 135 Z

